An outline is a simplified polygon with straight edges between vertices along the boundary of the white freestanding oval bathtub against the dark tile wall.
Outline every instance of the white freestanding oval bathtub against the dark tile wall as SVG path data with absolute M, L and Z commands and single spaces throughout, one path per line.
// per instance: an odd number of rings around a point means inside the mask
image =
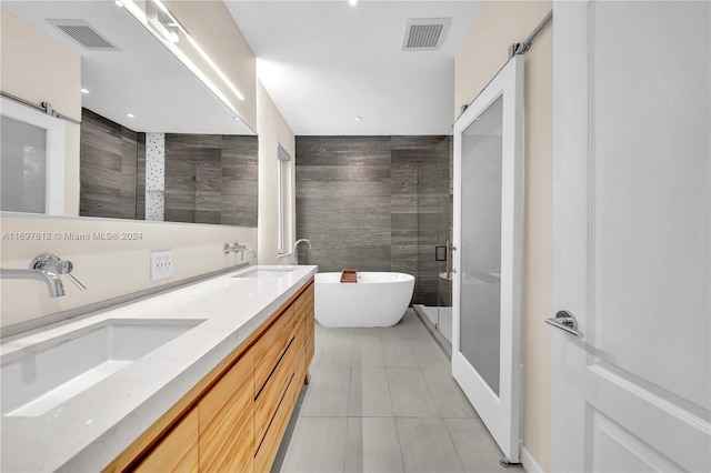
M 410 305 L 414 276 L 358 273 L 358 282 L 340 282 L 341 273 L 316 275 L 316 320 L 323 326 L 391 326 Z

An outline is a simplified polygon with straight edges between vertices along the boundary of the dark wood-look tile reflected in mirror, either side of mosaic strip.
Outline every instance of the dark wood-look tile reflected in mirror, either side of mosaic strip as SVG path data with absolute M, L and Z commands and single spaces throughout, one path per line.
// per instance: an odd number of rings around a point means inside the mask
M 166 134 L 166 221 L 257 227 L 258 138 Z M 82 110 L 80 215 L 146 218 L 146 133 Z

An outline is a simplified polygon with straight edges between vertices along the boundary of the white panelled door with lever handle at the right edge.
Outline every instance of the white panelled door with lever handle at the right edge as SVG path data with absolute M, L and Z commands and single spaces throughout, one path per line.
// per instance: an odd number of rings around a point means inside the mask
M 711 3 L 554 3 L 552 470 L 711 471 Z

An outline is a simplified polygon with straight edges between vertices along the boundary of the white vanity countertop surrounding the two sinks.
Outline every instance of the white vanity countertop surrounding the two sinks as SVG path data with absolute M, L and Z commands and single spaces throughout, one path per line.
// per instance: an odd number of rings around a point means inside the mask
M 256 269 L 282 278 L 233 278 Z M 41 416 L 3 416 L 3 472 L 100 471 L 230 354 L 317 271 L 251 266 L 0 345 L 0 356 L 107 319 L 204 322 Z

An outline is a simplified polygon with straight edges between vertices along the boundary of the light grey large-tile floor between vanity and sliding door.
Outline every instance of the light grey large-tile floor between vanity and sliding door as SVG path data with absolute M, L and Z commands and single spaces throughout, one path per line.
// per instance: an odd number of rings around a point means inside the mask
M 311 374 L 277 459 L 282 472 L 522 471 L 499 465 L 501 451 L 412 309 L 387 329 L 317 324 Z

